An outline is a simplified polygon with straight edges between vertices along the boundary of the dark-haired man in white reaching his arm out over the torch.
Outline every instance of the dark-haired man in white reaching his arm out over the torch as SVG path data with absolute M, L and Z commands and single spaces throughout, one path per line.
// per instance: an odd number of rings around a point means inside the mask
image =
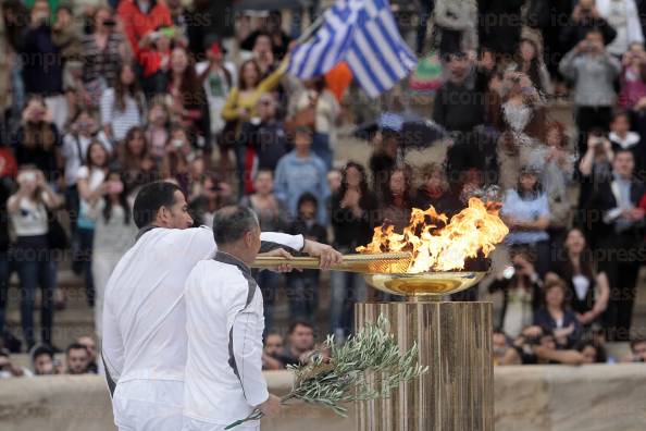
M 189 229 L 186 198 L 175 184 L 144 186 L 133 217 L 141 230 L 114 269 L 103 306 L 102 356 L 114 422 L 122 431 L 177 431 L 187 348 L 184 284 L 216 245 L 210 229 Z M 302 236 L 266 233 L 262 239 L 273 242 L 265 248 L 281 243 L 320 256 L 322 267 L 340 260 L 332 247 Z

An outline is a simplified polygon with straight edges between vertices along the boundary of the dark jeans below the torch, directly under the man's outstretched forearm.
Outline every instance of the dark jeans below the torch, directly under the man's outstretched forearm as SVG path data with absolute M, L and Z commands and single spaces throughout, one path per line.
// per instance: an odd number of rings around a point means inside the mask
M 314 325 L 319 299 L 319 271 L 306 270 L 287 275 L 289 320 L 305 320 Z

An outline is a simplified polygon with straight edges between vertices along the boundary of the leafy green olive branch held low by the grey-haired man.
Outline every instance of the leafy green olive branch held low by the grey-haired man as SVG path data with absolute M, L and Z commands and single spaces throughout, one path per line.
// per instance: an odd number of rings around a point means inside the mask
M 328 357 L 324 350 L 330 352 Z M 388 332 L 388 320 L 381 315 L 376 323 L 367 323 L 344 345 L 337 346 L 334 335 L 327 335 L 322 348 L 312 353 L 307 364 L 288 366 L 295 381 L 281 404 L 300 399 L 347 417 L 347 403 L 388 398 L 401 383 L 428 372 L 428 367 L 418 364 L 418 353 L 417 343 L 405 353 L 399 350 L 395 336 Z M 262 417 L 257 408 L 225 430 Z

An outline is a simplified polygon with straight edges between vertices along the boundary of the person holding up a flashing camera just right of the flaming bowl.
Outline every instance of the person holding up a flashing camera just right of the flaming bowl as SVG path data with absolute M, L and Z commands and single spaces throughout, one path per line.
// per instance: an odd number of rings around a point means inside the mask
M 542 281 L 525 250 L 513 251 L 511 261 L 513 266 L 505 268 L 489 285 L 489 293 L 502 292 L 498 328 L 513 338 L 534 319 L 534 310 L 541 304 Z

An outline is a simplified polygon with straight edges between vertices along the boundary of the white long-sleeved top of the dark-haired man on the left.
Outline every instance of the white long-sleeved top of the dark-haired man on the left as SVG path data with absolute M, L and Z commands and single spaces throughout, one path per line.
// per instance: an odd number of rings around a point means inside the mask
M 303 246 L 301 235 L 263 233 L 261 238 L 295 249 Z M 184 285 L 196 263 L 215 250 L 208 227 L 156 227 L 122 257 L 108 281 L 103 306 L 103 358 L 112 380 L 184 381 Z

